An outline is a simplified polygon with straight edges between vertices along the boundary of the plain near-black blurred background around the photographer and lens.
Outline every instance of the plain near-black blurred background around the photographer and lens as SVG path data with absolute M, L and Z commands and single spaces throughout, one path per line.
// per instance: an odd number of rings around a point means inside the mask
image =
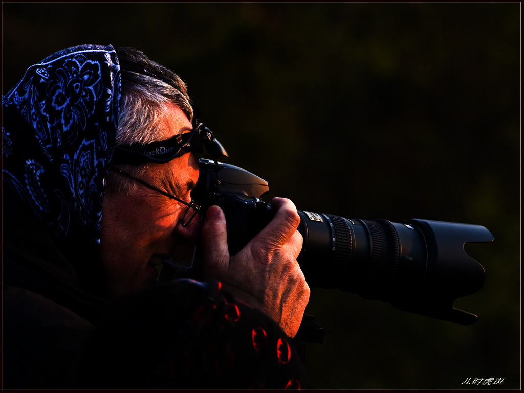
M 84 43 L 187 82 L 227 162 L 347 218 L 480 224 L 464 327 L 312 288 L 323 389 L 520 388 L 520 3 L 3 3 L 2 93 Z M 505 378 L 502 385 L 466 385 Z M 463 384 L 464 383 L 464 384 Z

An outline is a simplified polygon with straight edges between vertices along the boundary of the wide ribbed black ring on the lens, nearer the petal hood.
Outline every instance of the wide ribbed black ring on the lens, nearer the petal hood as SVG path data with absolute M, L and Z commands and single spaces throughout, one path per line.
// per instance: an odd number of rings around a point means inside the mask
M 387 301 L 400 257 L 398 234 L 387 220 L 363 221 L 369 228 L 373 249 L 362 287 L 366 293 L 361 295 L 368 299 Z

